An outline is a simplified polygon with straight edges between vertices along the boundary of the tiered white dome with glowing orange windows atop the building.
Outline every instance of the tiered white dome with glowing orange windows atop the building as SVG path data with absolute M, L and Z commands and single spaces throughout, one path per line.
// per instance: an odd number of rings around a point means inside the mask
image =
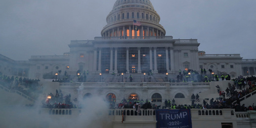
M 134 20 L 139 26 L 133 25 Z M 149 0 L 117 0 L 106 21 L 102 37 L 165 36 L 165 29 L 159 24 L 160 16 Z

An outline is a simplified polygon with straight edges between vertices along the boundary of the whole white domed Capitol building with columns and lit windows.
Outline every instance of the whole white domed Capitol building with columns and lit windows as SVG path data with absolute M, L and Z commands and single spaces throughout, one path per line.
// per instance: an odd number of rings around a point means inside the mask
M 140 25 L 134 25 L 134 20 Z M 232 82 L 165 81 L 176 81 L 179 70 L 192 69 L 200 73 L 202 68 L 206 69 L 208 77 L 213 77 L 208 72 L 211 69 L 219 77 L 221 74 L 229 74 L 232 78 L 256 73 L 256 59 L 242 59 L 240 54 L 206 54 L 204 51 L 198 51 L 200 43 L 197 39 L 174 39 L 173 36 L 166 36 L 164 27 L 159 24 L 160 16 L 149 0 L 117 0 L 106 22 L 101 37 L 95 37 L 94 40 L 72 40 L 68 45 L 70 51 L 63 55 L 32 55 L 27 61 L 15 61 L 0 54 L 0 72 L 10 76 L 40 79 L 46 94 L 61 89 L 77 99 L 89 95 L 112 95 L 112 100 L 116 103 L 121 102 L 123 98 L 135 97 L 148 99 L 156 105 L 163 105 L 165 99 L 176 99 L 177 104 L 191 104 L 190 96 L 197 93 L 200 97 L 217 98 L 219 95 L 215 86 L 218 84 L 223 90 Z M 87 75 L 87 82 L 77 82 L 78 71 L 81 73 L 79 75 Z M 74 83 L 51 82 L 64 78 L 64 72 Z M 144 74 L 149 72 L 153 75 Z M 130 75 L 133 76 L 133 82 L 128 80 Z M 80 92 L 77 92 L 77 89 L 80 89 Z M 200 99 L 202 100 L 203 98 Z M 46 110 L 46 113 L 48 111 Z M 223 115 L 198 115 L 198 110 L 192 110 L 193 126 L 256 125 L 255 122 L 249 121 L 252 119 L 249 115 L 253 113 L 234 113 L 232 109 L 216 111 L 222 111 Z M 79 112 L 72 110 L 70 116 L 75 117 Z M 110 113 L 112 116 L 108 119 L 113 120 L 110 127 L 125 127 L 118 120 L 121 118 L 120 111 L 113 110 Z M 61 118 L 61 115 L 53 116 Z M 134 123 L 137 126 L 133 125 Z M 155 117 L 147 114 L 143 119 L 127 116 L 124 124 L 133 127 L 155 127 L 155 123 Z

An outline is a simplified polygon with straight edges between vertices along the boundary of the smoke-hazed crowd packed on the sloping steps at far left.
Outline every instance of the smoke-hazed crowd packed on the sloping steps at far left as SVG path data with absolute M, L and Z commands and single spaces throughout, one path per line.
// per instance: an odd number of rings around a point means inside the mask
M 31 98 L 36 99 L 42 92 L 42 85 L 39 85 L 39 79 L 29 79 L 22 77 L 10 77 L 0 72 L 0 83 L 8 89 L 18 90 Z

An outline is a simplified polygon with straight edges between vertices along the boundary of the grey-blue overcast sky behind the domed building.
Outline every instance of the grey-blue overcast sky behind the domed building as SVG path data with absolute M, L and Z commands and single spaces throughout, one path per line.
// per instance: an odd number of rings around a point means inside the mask
M 116 0 L 1 0 L 0 54 L 14 60 L 63 55 L 70 40 L 93 40 Z M 256 1 L 151 0 L 166 36 L 198 39 L 206 54 L 256 59 Z

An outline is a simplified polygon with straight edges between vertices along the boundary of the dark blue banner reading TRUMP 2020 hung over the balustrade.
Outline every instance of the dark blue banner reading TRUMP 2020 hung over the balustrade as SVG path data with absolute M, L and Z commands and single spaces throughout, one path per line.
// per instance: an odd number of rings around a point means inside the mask
M 190 109 L 156 109 L 156 128 L 192 128 Z

